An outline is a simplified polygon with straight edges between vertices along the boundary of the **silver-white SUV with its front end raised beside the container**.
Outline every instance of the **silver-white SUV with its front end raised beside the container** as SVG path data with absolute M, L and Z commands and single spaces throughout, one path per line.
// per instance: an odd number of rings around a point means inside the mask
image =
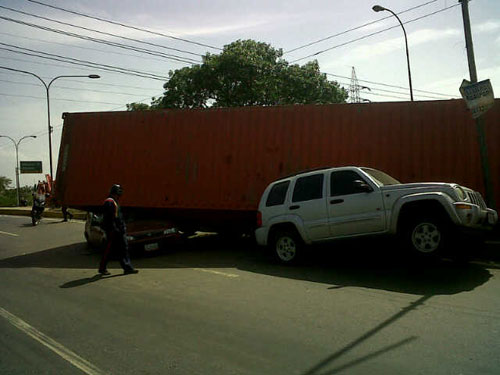
M 457 184 L 401 184 L 371 168 L 324 168 L 271 183 L 255 235 L 284 263 L 304 245 L 379 234 L 397 234 L 414 254 L 433 256 L 459 232 L 480 234 L 497 220 L 481 194 Z

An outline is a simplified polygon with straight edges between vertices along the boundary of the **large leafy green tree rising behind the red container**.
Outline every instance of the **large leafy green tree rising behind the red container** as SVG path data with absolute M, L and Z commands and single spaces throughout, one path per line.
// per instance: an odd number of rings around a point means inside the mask
M 342 103 L 347 92 L 328 81 L 317 61 L 290 65 L 281 49 L 238 40 L 200 65 L 169 72 L 163 96 L 151 108 L 240 107 Z

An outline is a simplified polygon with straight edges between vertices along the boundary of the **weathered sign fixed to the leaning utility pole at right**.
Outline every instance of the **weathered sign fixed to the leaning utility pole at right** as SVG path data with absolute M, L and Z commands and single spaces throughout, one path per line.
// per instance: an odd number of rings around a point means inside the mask
M 493 87 L 489 79 L 477 83 L 464 79 L 460 85 L 460 93 L 472 112 L 473 118 L 480 117 L 495 104 Z

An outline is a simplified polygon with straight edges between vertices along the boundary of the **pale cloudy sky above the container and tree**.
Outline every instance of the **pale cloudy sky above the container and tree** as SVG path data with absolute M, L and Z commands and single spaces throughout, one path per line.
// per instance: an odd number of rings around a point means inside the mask
M 219 53 L 224 45 L 238 39 L 254 39 L 282 48 L 289 62 L 304 64 L 317 59 L 321 71 L 346 89 L 354 67 L 360 85 L 370 88 L 361 90 L 363 99 L 409 100 L 403 32 L 390 13 L 372 11 L 377 2 L 398 13 L 402 22 L 413 20 L 405 28 L 415 100 L 458 98 L 462 80 L 469 79 L 458 0 L 0 0 L 0 66 L 32 72 L 47 83 L 60 75 L 101 76 L 60 78 L 50 88 L 55 175 L 63 112 L 116 111 L 125 110 L 125 104 L 130 102 L 149 104 L 151 97 L 162 94 L 164 77 L 170 70 L 201 61 L 201 55 L 207 52 Z M 500 0 L 473 0 L 469 7 L 478 78 L 491 79 L 498 95 Z M 355 30 L 346 32 L 350 29 Z M 103 41 L 147 49 L 149 53 Z M 127 71 L 117 73 L 54 60 L 67 58 Z M 4 69 L 0 69 L 0 83 L 0 135 L 16 141 L 36 135 L 36 139 L 22 141 L 19 160 L 41 160 L 44 173 L 48 173 L 47 103 L 42 83 L 34 76 Z M 0 176 L 11 178 L 13 186 L 14 169 L 14 145 L 0 138 Z M 21 185 L 33 184 L 42 177 L 21 175 Z

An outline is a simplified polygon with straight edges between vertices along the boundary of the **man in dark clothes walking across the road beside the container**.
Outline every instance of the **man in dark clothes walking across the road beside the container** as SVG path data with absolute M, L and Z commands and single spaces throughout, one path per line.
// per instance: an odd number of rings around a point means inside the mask
M 106 232 L 107 243 L 99 264 L 101 275 L 110 274 L 107 265 L 111 254 L 118 256 L 125 275 L 139 272 L 132 267 L 128 253 L 127 227 L 118 204 L 122 194 L 123 188 L 115 184 L 111 187 L 109 196 L 104 201 L 102 228 Z

